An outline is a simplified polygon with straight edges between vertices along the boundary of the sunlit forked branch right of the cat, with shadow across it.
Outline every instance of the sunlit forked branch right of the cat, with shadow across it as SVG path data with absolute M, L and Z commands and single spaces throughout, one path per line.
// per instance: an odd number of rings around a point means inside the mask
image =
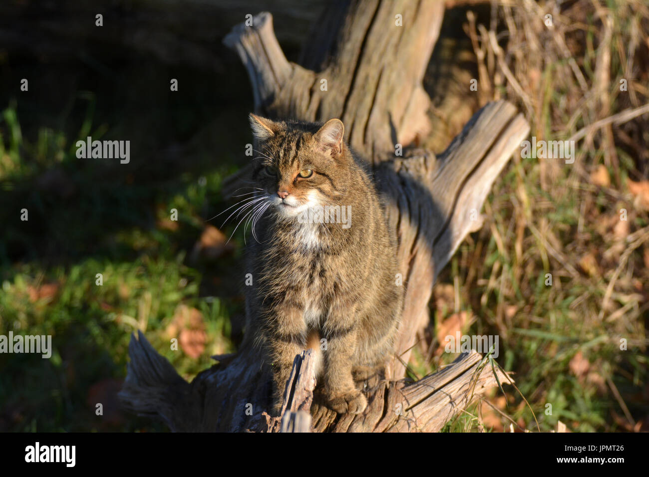
M 528 131 L 514 106 L 489 103 L 439 158 L 415 150 L 377 169 L 380 189 L 390 199 L 387 216 L 397 230 L 398 263 L 407 284 L 394 378 L 404 376 L 403 363 L 410 358 L 417 331 L 428 324 L 435 278 L 465 236 L 482 226 L 479 212 L 493 181 Z

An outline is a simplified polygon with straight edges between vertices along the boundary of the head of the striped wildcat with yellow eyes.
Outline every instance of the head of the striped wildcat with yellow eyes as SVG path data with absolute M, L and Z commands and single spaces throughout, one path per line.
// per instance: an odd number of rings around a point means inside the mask
M 295 217 L 340 199 L 349 178 L 342 121 L 318 125 L 251 114 L 250 123 L 256 142 L 252 180 L 278 215 Z

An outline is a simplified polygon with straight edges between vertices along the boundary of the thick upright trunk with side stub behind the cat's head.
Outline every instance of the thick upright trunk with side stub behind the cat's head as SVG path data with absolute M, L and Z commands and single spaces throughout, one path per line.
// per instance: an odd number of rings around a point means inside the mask
M 337 16 L 344 12 L 334 10 Z M 256 16 L 252 27 L 238 25 L 224 43 L 247 67 L 256 110 L 306 121 L 338 117 L 349 145 L 374 162 L 376 154 L 430 130 L 430 100 L 422 79 L 444 4 L 353 1 L 346 12 L 338 17 L 342 26 L 332 45 L 335 53 L 319 55 L 330 60 L 317 73 L 286 60 L 269 13 Z M 397 25 L 397 15 L 403 26 Z

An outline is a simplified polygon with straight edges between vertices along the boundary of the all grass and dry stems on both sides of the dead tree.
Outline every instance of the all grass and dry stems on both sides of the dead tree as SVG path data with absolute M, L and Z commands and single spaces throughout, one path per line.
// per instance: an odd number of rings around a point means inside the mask
M 593 102 L 601 97 L 594 92 L 593 75 L 601 60 L 602 25 L 592 11 L 582 16 L 581 4 L 574 5 L 562 15 L 570 19 L 568 24 L 578 25 L 565 34 L 591 88 L 587 92 L 572 77 L 563 52 L 553 50 L 552 35 L 562 32 L 561 22 L 550 32 L 536 12 L 517 10 L 519 29 L 503 37 L 511 43 L 509 67 L 535 102 L 531 106 L 537 115 L 528 120 L 539 139 L 569 138 L 599 119 L 602 109 Z M 611 5 L 620 8 L 611 8 L 610 75 L 604 89 L 614 93 L 607 114 L 634 106 L 615 86 L 628 76 L 623 56 L 637 34 L 633 22 L 649 18 L 639 3 Z M 499 28 L 507 27 L 501 21 Z M 541 39 L 543 54 L 517 48 L 526 42 L 526 32 Z M 637 77 L 627 78 L 641 104 L 649 102 L 643 86 L 648 77 L 644 42 L 646 36 L 637 42 L 631 68 Z M 141 65 L 130 67 L 123 76 L 138 79 L 132 91 L 143 96 L 149 83 L 168 73 L 165 67 L 145 68 L 140 78 Z M 526 99 L 503 75 L 496 75 L 496 69 L 487 72 L 493 92 L 526 111 Z M 239 231 L 233 238 L 237 247 L 232 256 L 210 262 L 191 255 L 205 220 L 227 207 L 221 183 L 241 165 L 240 145 L 250 140 L 245 122 L 249 89 L 241 80 L 245 73 L 239 74 L 223 75 L 228 79 L 221 79 L 220 88 L 212 86 L 211 74 L 203 74 L 194 82 L 196 91 L 178 99 L 153 95 L 132 101 L 127 93 L 114 93 L 116 85 L 97 80 L 96 92 L 80 88 L 65 99 L 62 112 L 51 104 L 30 103 L 24 95 L 2 110 L 0 334 L 50 334 L 54 349 L 49 360 L 0 355 L 0 431 L 165 430 L 119 413 L 110 402 L 110 383 L 125 377 L 132 332 L 143 330 L 186 379 L 210 366 L 213 354 L 236 349 L 243 305 L 232 277 L 242 235 Z M 537 84 L 528 81 L 534 75 L 540 78 Z M 129 92 L 130 83 L 125 84 L 117 86 Z M 102 91 L 116 95 L 117 110 Z M 40 109 L 42 116 L 34 113 Z M 49 116 L 56 121 L 43 121 Z M 626 136 L 646 145 L 646 120 L 629 125 L 637 129 L 626 130 Z M 626 181 L 646 178 L 648 166 L 628 139 L 614 132 L 617 162 L 600 133 L 593 143 L 578 142 L 580 161 L 572 167 L 515 155 L 485 203 L 482 230 L 467 238 L 439 276 L 431 306 L 434 319 L 426 339 L 413 349 L 411 377 L 456 357 L 435 354 L 435 330 L 457 310 L 475 318 L 463 334 L 500 338 L 496 361 L 513 372 L 518 387 L 504 385 L 506 398 L 496 389 L 485 397 L 508 418 L 474 404 L 448 422 L 445 432 L 501 432 L 509 430 L 511 421 L 517 430 L 531 431 L 537 421 L 541 431 L 556 430 L 559 421 L 574 432 L 629 430 L 637 424 L 646 429 L 649 271 L 643 254 L 649 254 L 649 242 L 631 250 L 630 239 L 649 224 L 649 215 L 635 206 Z M 79 160 L 75 141 L 88 135 L 131 137 L 135 159 L 129 167 Z M 151 149 L 160 144 L 171 153 Z M 589 180 L 601 164 L 611 186 Z M 29 221 L 20 220 L 23 208 Z M 175 225 L 169 223 L 172 208 L 178 210 Z M 628 231 L 617 237 L 620 208 L 629 212 Z M 224 232 L 229 236 L 233 228 Z M 103 275 L 101 286 L 97 273 Z M 552 286 L 545 284 L 548 273 Z M 445 286 L 457 290 L 458 302 L 443 297 Z M 198 358 L 171 347 L 180 332 L 175 320 L 191 308 L 200 314 L 206 333 Z M 627 350 L 620 350 L 620 338 L 628 340 Z M 94 412 L 98 399 L 106 401 L 101 418 Z M 546 413 L 548 404 L 551 414 Z

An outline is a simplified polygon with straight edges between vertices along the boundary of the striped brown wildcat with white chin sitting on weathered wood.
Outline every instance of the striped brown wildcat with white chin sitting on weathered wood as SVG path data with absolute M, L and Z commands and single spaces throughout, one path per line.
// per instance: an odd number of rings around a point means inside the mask
M 378 194 L 339 119 L 250 121 L 258 154 L 247 202 L 256 239 L 247 247 L 246 334 L 271 364 L 274 411 L 295 355 L 312 347 L 326 405 L 361 413 L 367 399 L 354 377 L 386 360 L 403 301 Z

